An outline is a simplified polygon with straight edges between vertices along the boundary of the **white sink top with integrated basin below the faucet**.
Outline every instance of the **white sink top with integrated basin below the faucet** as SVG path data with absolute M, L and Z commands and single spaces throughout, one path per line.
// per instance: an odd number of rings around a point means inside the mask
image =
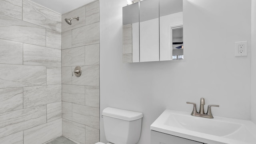
M 248 120 L 201 118 L 189 112 L 165 110 L 150 128 L 207 144 L 256 144 L 256 125 Z

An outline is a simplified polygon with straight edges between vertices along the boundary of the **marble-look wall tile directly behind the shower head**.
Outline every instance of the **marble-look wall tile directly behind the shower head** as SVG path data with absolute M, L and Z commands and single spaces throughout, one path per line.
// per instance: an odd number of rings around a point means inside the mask
M 65 18 L 79 17 L 79 21 L 72 20 L 72 25 L 65 22 Z M 85 6 L 62 15 L 62 32 L 85 26 Z

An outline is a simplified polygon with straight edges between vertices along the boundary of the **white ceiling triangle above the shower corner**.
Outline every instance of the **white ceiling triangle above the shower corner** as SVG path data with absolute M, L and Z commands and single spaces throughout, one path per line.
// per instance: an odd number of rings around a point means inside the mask
M 59 14 L 64 14 L 95 0 L 30 0 Z

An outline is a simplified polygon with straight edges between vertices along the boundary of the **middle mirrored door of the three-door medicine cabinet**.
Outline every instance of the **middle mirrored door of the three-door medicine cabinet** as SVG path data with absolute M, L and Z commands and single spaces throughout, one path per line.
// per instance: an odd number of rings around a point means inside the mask
M 140 62 L 159 61 L 159 3 L 140 2 Z

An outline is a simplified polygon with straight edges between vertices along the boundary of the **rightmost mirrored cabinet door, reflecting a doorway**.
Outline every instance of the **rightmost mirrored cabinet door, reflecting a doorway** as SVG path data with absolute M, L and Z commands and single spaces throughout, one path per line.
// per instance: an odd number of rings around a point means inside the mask
M 183 59 L 182 0 L 159 0 L 160 61 Z

